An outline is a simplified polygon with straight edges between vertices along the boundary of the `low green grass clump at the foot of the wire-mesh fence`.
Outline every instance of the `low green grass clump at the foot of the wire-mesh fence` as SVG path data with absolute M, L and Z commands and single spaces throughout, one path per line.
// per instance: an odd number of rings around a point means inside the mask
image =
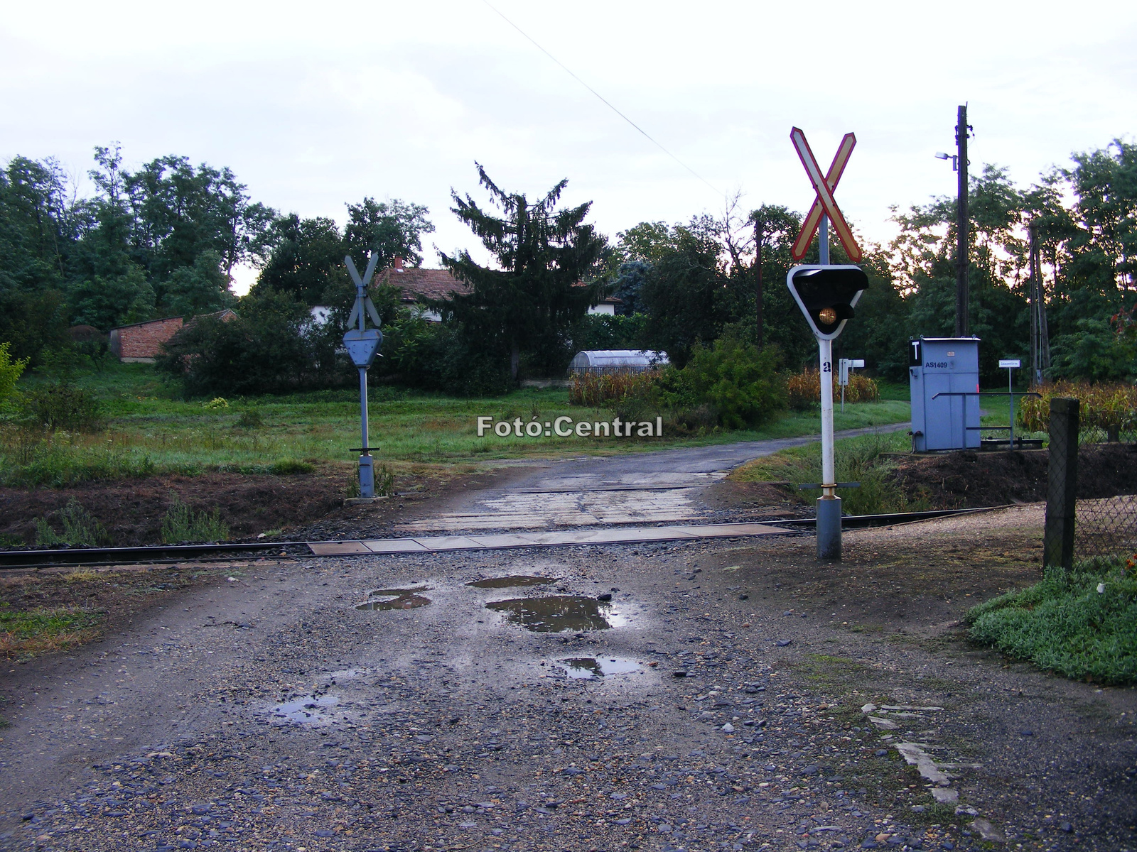
M 1137 576 L 1120 559 L 1047 568 L 1040 583 L 979 604 L 966 621 L 973 642 L 1041 669 L 1137 683 Z

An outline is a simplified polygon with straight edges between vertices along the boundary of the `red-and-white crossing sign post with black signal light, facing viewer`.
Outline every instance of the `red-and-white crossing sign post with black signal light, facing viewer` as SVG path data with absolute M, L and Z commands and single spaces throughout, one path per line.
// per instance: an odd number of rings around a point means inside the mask
M 856 136 L 846 133 L 837 147 L 837 154 L 822 174 L 810 143 L 798 127 L 790 131 L 790 141 L 797 151 L 805 174 L 813 184 L 814 201 L 810 214 L 802 224 L 790 250 L 795 260 L 803 260 L 819 235 L 818 249 L 821 264 L 795 266 L 786 276 L 794 301 L 810 324 L 810 331 L 818 339 L 819 378 L 821 384 L 821 496 L 818 498 L 818 559 L 841 558 L 841 499 L 837 496 L 838 483 L 833 463 L 833 340 L 844 331 L 845 323 L 853 318 L 854 307 L 861 293 L 869 286 L 869 278 L 861 267 L 855 266 L 861 258 L 853 231 L 841 215 L 833 191 L 845 172 L 845 166 L 856 145 Z M 841 241 L 850 265 L 833 266 L 829 262 L 829 225 L 832 224 L 837 239 Z M 864 366 L 862 361 L 860 366 Z M 843 365 L 847 369 L 847 365 Z M 844 384 L 844 383 L 843 383 Z M 844 406 L 844 391 L 841 399 Z M 852 485 L 852 483 L 846 484 Z M 843 485 L 844 487 L 844 485 Z

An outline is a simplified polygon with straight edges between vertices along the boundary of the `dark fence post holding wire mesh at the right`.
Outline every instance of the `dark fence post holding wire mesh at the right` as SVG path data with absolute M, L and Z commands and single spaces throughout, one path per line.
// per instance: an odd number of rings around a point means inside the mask
M 1073 568 L 1073 520 L 1078 492 L 1078 400 L 1051 400 L 1051 450 L 1046 475 L 1043 565 Z

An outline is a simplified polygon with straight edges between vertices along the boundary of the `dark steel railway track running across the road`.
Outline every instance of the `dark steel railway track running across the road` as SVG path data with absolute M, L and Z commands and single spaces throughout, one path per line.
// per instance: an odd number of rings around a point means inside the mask
M 919 520 L 930 520 L 932 518 L 944 518 L 955 515 L 969 515 L 974 512 L 991 511 L 1005 507 L 994 506 L 981 509 L 933 509 L 929 511 L 915 512 L 890 512 L 885 515 L 849 515 L 841 519 L 845 529 L 861 529 L 865 527 L 894 526 L 897 524 L 910 524 Z M 814 526 L 813 518 L 774 519 L 761 520 L 767 527 L 783 527 L 789 531 L 810 529 Z M 721 525 L 707 525 L 721 526 Z M 688 531 L 683 536 L 684 541 L 699 537 L 697 534 L 699 525 L 684 525 Z M 648 527 L 647 529 L 654 529 Z M 694 533 L 690 531 L 695 531 Z M 590 531 L 581 531 L 590 532 Z M 716 536 L 720 537 L 720 536 Z M 384 541 L 384 540 L 380 540 Z M 414 541 L 388 540 L 388 541 Z M 163 565 L 193 561 L 221 561 L 243 556 L 264 557 L 267 554 L 279 557 L 305 558 L 315 556 L 329 556 L 317 553 L 322 545 L 343 545 L 347 542 L 227 542 L 224 544 L 160 544 L 144 548 L 67 548 L 60 550 L 7 550 L 0 551 L 0 570 L 17 568 L 69 568 L 78 566 L 107 566 L 107 565 Z M 587 541 L 571 542 L 590 543 Z M 596 543 L 596 542 L 591 542 Z M 516 546 L 525 546 L 523 544 Z M 359 551 L 357 551 L 359 553 Z M 348 556 L 349 553 L 343 553 Z

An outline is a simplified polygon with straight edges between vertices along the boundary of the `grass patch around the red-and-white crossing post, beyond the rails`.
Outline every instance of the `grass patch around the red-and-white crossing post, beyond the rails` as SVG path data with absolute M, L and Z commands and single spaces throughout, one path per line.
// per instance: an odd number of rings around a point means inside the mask
M 902 432 L 864 435 L 837 441 L 833 459 L 837 482 L 858 482 L 860 488 L 843 488 L 841 511 L 845 515 L 877 515 L 880 512 L 913 511 L 924 507 L 907 500 L 901 488 L 888 478 L 894 463 L 887 453 L 904 452 L 911 438 Z M 807 444 L 781 450 L 772 456 L 747 462 L 731 475 L 736 482 L 821 482 L 821 445 Z M 819 496 L 819 491 L 802 492 Z

